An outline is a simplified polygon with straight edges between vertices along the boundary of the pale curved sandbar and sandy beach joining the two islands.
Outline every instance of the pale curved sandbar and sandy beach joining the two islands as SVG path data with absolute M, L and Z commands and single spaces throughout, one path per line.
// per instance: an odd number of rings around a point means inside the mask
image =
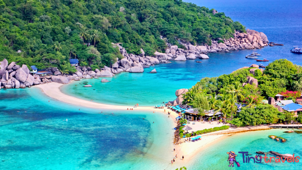
M 33 86 L 34 88 L 40 88 L 47 96 L 50 96 L 53 99 L 69 103 L 72 105 L 76 105 L 76 110 L 80 109 L 82 107 L 90 107 L 95 109 L 106 109 L 106 110 L 127 110 L 127 108 L 133 108 L 133 106 L 116 106 L 116 105 L 107 105 L 107 104 L 101 104 L 101 103 L 95 103 L 92 101 L 82 100 L 73 96 L 68 96 L 60 91 L 60 87 L 62 87 L 64 84 L 60 83 L 45 83 L 37 86 Z M 164 110 L 166 111 L 164 112 Z M 159 112 L 159 113 L 165 113 L 168 114 L 168 111 L 171 112 L 170 117 L 172 118 L 172 121 L 174 122 L 174 125 L 176 126 L 175 117 L 178 116 L 177 113 L 175 113 L 172 110 L 169 110 L 168 108 L 164 109 L 156 109 L 154 107 L 147 107 L 147 106 L 139 106 L 136 108 L 133 108 L 133 110 L 147 110 L 151 112 Z M 188 124 L 190 127 L 192 127 L 192 131 L 202 130 L 202 129 L 209 129 L 213 127 L 223 126 L 223 124 L 218 124 L 216 121 L 214 121 L 214 124 L 201 123 L 196 122 L 195 125 Z M 185 161 L 189 161 L 192 156 L 196 152 L 201 151 L 202 149 L 206 148 L 207 145 L 213 144 L 213 142 L 218 141 L 218 139 L 223 139 L 224 137 L 228 136 L 229 134 L 233 133 L 240 133 L 240 132 L 247 132 L 247 131 L 255 131 L 255 130 L 265 130 L 270 129 L 268 126 L 251 126 L 251 127 L 240 127 L 240 128 L 230 128 L 226 130 L 220 130 L 217 132 L 211 132 L 206 133 L 201 136 L 201 140 L 196 142 L 185 142 L 185 139 L 180 139 L 181 144 L 175 145 L 175 155 L 178 155 L 178 158 L 184 156 Z

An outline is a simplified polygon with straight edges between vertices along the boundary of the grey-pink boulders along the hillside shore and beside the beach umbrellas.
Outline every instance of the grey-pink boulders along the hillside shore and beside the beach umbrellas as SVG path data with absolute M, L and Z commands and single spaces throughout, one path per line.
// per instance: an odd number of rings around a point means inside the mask
M 185 49 L 178 48 L 177 45 L 172 45 L 167 43 L 168 47 L 165 53 L 155 52 L 153 57 L 145 56 L 145 52 L 141 49 L 140 55 L 128 54 L 126 49 L 120 46 L 119 44 L 113 44 L 113 46 L 120 49 L 120 53 L 124 56 L 123 59 L 118 60 L 111 67 L 105 66 L 104 68 L 92 70 L 90 67 L 80 67 L 76 66 L 76 73 L 73 74 L 61 74 L 61 72 L 55 68 L 47 68 L 46 71 L 52 73 L 50 76 L 39 76 L 37 74 L 31 75 L 30 70 L 26 65 L 20 67 L 15 62 L 11 62 L 8 65 L 8 61 L 4 59 L 0 62 L 0 88 L 25 88 L 31 87 L 33 85 L 57 82 L 67 84 L 71 80 L 80 80 L 81 78 L 90 79 L 98 77 L 113 77 L 115 74 L 121 72 L 129 73 L 142 73 L 144 68 L 149 68 L 151 65 L 160 64 L 160 63 L 171 63 L 170 60 L 175 61 L 185 61 L 185 60 L 195 60 L 196 58 L 200 59 L 209 59 L 207 56 L 208 53 L 217 53 L 217 52 L 229 52 L 230 50 L 238 49 L 259 49 L 265 46 L 274 46 L 274 43 L 268 44 L 267 36 L 255 30 L 246 30 L 247 33 L 240 33 L 236 31 L 233 36 L 234 38 L 229 38 L 228 40 L 223 39 L 224 43 L 218 43 L 222 40 L 218 38 L 218 41 L 212 39 L 212 44 L 196 46 L 191 45 L 190 43 L 182 43 Z M 283 44 L 275 44 L 283 45 Z M 201 61 L 197 61 L 201 63 Z M 157 73 L 156 70 L 152 70 L 150 73 Z M 105 80 L 102 82 L 106 82 Z M 180 97 L 179 97 L 180 96 Z M 181 95 L 178 96 L 178 100 L 175 103 L 181 103 Z M 174 105 L 175 103 L 171 103 Z

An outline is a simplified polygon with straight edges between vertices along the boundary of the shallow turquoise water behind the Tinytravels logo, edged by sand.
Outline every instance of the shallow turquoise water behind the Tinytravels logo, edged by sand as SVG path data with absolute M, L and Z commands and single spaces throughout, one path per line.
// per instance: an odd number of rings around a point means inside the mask
M 228 154 L 226 152 L 234 151 L 236 153 L 236 161 L 239 162 L 240 167 L 236 165 L 232 169 L 302 169 L 301 160 L 298 163 L 265 163 L 262 159 L 261 163 L 243 163 L 243 156 L 238 152 L 249 152 L 255 157 L 257 151 L 275 151 L 281 154 L 291 154 L 301 157 L 302 144 L 301 134 L 297 133 L 283 133 L 287 129 L 271 129 L 263 131 L 245 132 L 234 134 L 226 137 L 219 142 L 214 142 L 207 149 L 196 154 L 189 165 L 189 169 L 229 169 Z M 301 131 L 301 130 L 300 130 Z M 302 132 L 302 131 L 301 131 Z M 280 136 L 287 139 L 286 142 L 277 142 L 276 140 L 268 138 L 268 135 Z M 270 155 L 272 156 L 272 155 Z M 268 159 L 266 159 L 268 161 Z M 198 167 L 198 168 L 197 168 Z

